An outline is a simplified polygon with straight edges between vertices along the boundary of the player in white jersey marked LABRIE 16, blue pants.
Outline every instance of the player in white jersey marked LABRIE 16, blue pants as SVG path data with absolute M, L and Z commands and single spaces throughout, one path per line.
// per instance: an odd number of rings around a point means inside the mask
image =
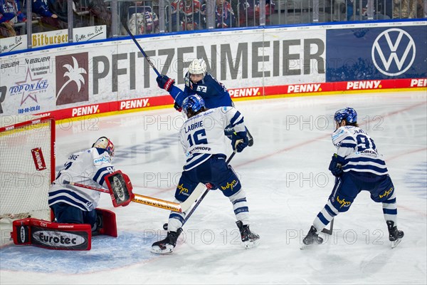
M 233 150 L 241 152 L 248 146 L 243 115 L 233 107 L 206 110 L 204 100 L 199 95 L 185 98 L 182 108 L 188 118 L 181 128 L 186 164 L 176 187 L 175 199 L 184 202 L 199 183 L 217 187 L 233 204 L 243 244 L 247 248 L 254 247 L 259 242 L 259 236 L 249 229 L 246 193 L 236 173 L 226 163 L 226 143 L 229 140 L 224 135 L 224 129 L 228 125 L 236 131 L 231 142 Z M 154 242 L 152 252 L 164 254 L 174 250 L 184 219 L 185 213 L 169 214 L 167 237 Z

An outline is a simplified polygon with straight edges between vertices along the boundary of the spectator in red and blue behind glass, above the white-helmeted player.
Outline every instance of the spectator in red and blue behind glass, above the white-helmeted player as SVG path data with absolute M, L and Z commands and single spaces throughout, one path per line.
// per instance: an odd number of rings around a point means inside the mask
M 172 31 L 177 30 L 178 21 L 182 31 L 201 28 L 201 3 L 199 0 L 175 0 L 172 7 Z

